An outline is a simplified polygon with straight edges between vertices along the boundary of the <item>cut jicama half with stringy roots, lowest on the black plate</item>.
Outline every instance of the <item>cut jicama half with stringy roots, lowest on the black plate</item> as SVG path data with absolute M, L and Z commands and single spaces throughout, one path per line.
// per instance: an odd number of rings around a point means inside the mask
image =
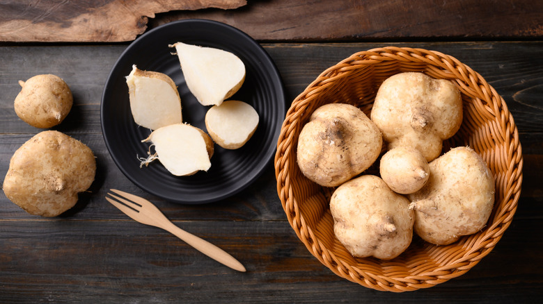
M 203 130 L 194 126 L 165 126 L 152 131 L 142 142 L 152 142 L 155 154 L 140 158 L 140 167 L 158 159 L 175 176 L 189 176 L 211 167 L 213 141 Z

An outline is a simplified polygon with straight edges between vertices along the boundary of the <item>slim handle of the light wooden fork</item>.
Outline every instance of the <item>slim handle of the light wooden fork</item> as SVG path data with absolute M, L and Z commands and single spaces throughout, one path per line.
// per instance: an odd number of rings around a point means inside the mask
M 207 242 L 205 239 L 201 239 L 196 235 L 187 233 L 187 231 L 182 230 L 178 226 L 175 226 L 175 224 L 171 223 L 171 221 L 164 223 L 161 228 L 168 231 L 169 233 L 172 233 L 176 237 L 179 237 L 190 246 L 193 246 L 196 250 L 207 255 L 208 257 L 211 257 L 213 260 L 216 260 L 217 262 L 224 264 L 231 269 L 242 272 L 246 271 L 242 263 L 236 260 L 232 255 L 230 255 L 226 251 L 223 251 L 221 248 L 215 246 L 214 244 Z

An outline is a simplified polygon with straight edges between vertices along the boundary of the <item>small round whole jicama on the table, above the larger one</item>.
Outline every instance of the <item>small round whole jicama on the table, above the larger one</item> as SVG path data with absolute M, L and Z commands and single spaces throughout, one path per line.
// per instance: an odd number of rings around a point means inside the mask
M 60 124 L 72 109 L 70 87 L 58 76 L 36 75 L 26 82 L 15 98 L 17 116 L 36 128 L 51 128 Z

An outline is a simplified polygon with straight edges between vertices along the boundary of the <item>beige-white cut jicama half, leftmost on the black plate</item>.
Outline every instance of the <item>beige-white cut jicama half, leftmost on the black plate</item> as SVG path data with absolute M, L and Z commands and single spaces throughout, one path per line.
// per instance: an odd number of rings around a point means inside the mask
M 181 98 L 173 80 L 136 65 L 127 76 L 130 110 L 136 124 L 151 130 L 182 122 Z

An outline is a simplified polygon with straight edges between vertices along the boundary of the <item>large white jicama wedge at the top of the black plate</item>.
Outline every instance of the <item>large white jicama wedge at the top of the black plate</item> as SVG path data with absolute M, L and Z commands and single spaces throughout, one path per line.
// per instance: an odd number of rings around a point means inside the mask
M 170 47 L 177 51 L 187 87 L 202 105 L 220 105 L 245 80 L 245 65 L 233 53 L 182 42 Z

